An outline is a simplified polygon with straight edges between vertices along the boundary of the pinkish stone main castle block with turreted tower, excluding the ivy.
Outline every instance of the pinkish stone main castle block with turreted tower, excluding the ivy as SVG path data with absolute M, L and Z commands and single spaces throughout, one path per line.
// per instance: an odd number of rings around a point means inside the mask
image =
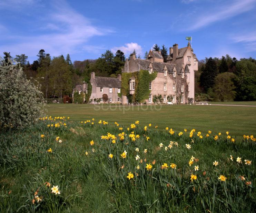
M 151 93 L 149 99 L 145 100 L 146 103 L 153 103 L 153 96 L 158 94 L 162 95 L 165 103 L 169 95 L 173 97 L 173 103 L 179 101 L 185 104 L 188 103 L 188 98 L 195 98 L 194 72 L 198 70 L 198 60 L 189 42 L 184 48 L 179 49 L 178 44 L 170 47 L 167 63 L 164 63 L 160 51 L 150 50 L 147 59 L 139 59 L 131 54 L 130 60 L 126 59 L 122 72 L 140 70 L 157 72 L 156 79 L 149 85 Z M 122 96 L 122 104 L 127 104 L 127 100 L 127 97 Z

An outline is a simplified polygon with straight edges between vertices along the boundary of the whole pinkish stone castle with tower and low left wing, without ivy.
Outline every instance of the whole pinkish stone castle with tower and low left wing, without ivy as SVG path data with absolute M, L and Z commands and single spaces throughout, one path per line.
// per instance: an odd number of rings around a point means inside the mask
M 171 97 L 172 103 L 191 103 L 194 102 L 195 96 L 195 71 L 198 70 L 198 60 L 191 48 L 190 42 L 187 47 L 178 48 L 178 44 L 174 44 L 169 48 L 169 56 L 167 61 L 161 55 L 161 51 L 150 50 L 146 59 L 136 58 L 135 54 L 130 55 L 125 61 L 122 73 L 138 72 L 140 70 L 148 70 L 149 74 L 157 72 L 156 78 L 149 82 L 148 89 L 150 94 L 145 100 L 147 104 L 153 103 L 154 95 L 163 97 L 163 102 L 168 102 Z M 135 94 L 135 78 L 129 79 L 129 94 Z M 95 73 L 91 73 L 90 84 L 92 92 L 90 99 L 95 103 L 95 99 L 100 102 L 122 103 L 128 104 L 128 97 L 120 95 L 121 92 L 121 76 L 117 78 L 95 77 Z M 79 93 L 82 90 L 87 91 L 87 86 L 76 86 Z M 74 90 L 75 91 L 75 90 Z M 78 91 L 78 90 L 77 90 Z M 119 93 L 119 95 L 118 95 Z M 108 100 L 103 99 L 103 94 Z M 107 96 L 106 96 L 107 95 Z M 121 96 L 121 98 L 120 98 Z

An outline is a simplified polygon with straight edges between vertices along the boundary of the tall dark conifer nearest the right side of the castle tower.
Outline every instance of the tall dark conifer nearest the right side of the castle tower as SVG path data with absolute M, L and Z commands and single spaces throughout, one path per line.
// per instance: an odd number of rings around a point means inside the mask
M 209 88 L 213 88 L 215 83 L 215 77 L 218 75 L 216 61 L 210 57 L 206 58 L 206 65 L 202 69 L 200 76 L 200 85 L 206 92 Z

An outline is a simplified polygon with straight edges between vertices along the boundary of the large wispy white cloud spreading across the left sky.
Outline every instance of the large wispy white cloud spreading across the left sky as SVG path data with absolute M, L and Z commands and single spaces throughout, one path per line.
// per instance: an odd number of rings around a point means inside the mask
M 79 52 L 91 37 L 114 32 L 93 25 L 66 1 L 55 1 L 52 7 L 54 12 L 46 14 L 44 18 L 48 21 L 38 29 L 42 31 L 41 35 L 14 37 L 15 43 L 0 46 L 0 50 L 12 54 L 26 52 L 28 56 L 35 56 L 43 48 L 47 53 L 57 56 Z

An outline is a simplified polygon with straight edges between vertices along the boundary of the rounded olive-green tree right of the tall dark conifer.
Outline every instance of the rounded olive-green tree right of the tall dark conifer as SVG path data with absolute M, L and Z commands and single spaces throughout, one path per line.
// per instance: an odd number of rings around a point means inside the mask
M 215 98 L 220 101 L 233 101 L 236 97 L 233 79 L 235 74 L 232 72 L 223 72 L 216 76 L 214 92 Z

